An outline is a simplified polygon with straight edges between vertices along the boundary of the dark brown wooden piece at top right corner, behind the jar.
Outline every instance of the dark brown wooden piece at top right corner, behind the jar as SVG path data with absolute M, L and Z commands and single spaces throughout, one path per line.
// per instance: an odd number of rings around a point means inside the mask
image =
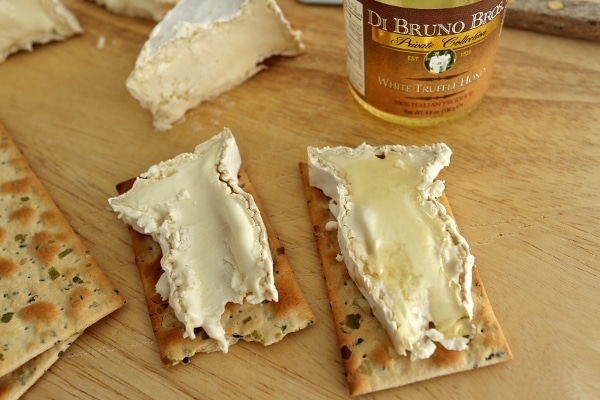
M 600 41 L 600 0 L 509 0 L 504 26 Z

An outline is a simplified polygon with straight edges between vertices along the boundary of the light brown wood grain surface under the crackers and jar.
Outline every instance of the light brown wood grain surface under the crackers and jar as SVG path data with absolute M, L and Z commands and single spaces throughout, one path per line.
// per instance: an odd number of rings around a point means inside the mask
M 514 360 L 365 399 L 592 399 L 600 393 L 600 44 L 504 29 L 482 105 L 407 128 L 357 105 L 339 7 L 280 0 L 307 46 L 170 132 L 124 82 L 153 23 L 65 0 L 85 33 L 0 64 L 0 121 L 127 304 L 78 339 L 25 399 L 350 398 L 298 171 L 306 147 L 447 143 L 441 178 Z M 105 45 L 97 46 L 103 38 Z M 115 184 L 228 126 L 317 322 L 165 369 Z

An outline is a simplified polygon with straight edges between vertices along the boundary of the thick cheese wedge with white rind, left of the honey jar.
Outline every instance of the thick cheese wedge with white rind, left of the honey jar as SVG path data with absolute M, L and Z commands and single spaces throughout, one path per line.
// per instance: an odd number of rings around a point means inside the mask
M 154 28 L 126 85 L 165 131 L 185 112 L 304 48 L 274 0 L 182 0 Z

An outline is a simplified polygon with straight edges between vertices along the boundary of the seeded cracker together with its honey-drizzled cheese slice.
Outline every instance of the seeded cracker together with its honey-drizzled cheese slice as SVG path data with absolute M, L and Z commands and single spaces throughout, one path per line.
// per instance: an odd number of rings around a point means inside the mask
M 300 163 L 352 395 L 512 357 L 434 181 L 449 156 L 363 144 L 309 148 Z

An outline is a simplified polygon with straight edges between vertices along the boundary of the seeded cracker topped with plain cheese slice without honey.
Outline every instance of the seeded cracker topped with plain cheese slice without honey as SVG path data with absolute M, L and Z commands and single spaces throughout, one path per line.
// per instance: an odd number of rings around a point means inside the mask
M 165 181 L 169 189 L 163 186 Z M 151 167 L 135 181 L 119 184 L 117 190 L 121 197 L 109 201 L 130 225 L 135 262 L 164 366 L 188 362 L 196 353 L 226 352 L 241 339 L 270 345 L 314 323 L 285 249 L 241 168 L 228 129 L 199 145 L 195 153 Z M 155 197 L 155 190 L 165 196 Z M 122 197 L 127 194 L 129 198 Z M 238 195 L 243 195 L 242 203 L 229 205 L 230 198 Z M 239 211 L 252 214 L 250 224 Z M 255 224 L 260 216 L 262 222 Z M 262 277 L 252 279 L 256 273 Z M 198 276 L 199 282 L 190 282 Z M 244 277 L 248 282 L 240 284 Z M 270 277 L 272 282 L 266 282 Z M 161 282 L 167 279 L 168 285 Z M 264 290 L 256 283 L 273 285 L 277 293 L 273 296 L 269 289 L 268 298 L 258 298 Z M 170 288 L 167 296 L 165 285 Z M 233 297 L 224 295 L 232 290 L 237 292 Z

